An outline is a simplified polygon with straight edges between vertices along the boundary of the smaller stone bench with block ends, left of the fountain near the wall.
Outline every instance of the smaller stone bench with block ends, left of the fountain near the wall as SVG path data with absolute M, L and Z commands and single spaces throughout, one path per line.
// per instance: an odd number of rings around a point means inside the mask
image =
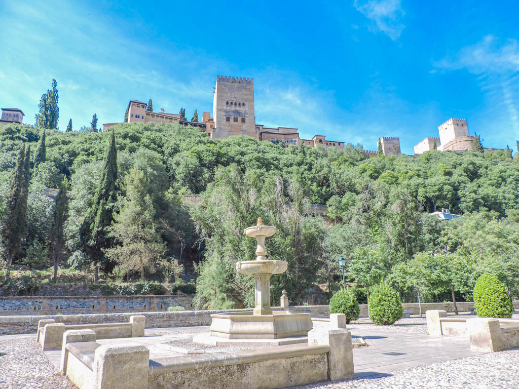
M 53 319 L 44 319 L 38 322 L 36 340 L 44 351 L 60 350 L 65 331 L 90 329 L 97 339 L 135 338 L 144 336 L 145 324 L 146 318 L 142 315 L 130 316 L 129 323 L 65 325 Z

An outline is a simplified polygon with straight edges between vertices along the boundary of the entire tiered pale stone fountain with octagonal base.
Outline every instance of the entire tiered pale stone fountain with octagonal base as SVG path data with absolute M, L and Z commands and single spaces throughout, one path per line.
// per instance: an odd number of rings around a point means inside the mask
M 263 225 L 258 218 L 256 226 L 245 228 L 248 237 L 257 241 L 256 260 L 236 262 L 236 270 L 256 280 L 256 306 L 251 312 L 212 314 L 211 334 L 194 338 L 195 342 L 226 344 L 291 344 L 307 342 L 312 329 L 310 313 L 272 311 L 270 307 L 270 277 L 281 274 L 288 262 L 266 258 L 265 238 L 276 228 Z

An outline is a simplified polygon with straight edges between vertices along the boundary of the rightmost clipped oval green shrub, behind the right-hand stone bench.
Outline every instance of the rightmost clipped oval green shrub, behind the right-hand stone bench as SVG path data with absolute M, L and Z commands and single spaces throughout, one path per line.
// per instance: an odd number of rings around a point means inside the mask
M 474 309 L 480 317 L 510 317 L 514 312 L 507 288 L 494 274 L 482 274 L 474 286 Z

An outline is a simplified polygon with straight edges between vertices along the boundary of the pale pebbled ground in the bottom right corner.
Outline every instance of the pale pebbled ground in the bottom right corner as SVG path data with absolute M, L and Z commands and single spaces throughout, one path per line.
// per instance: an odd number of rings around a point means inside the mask
M 294 386 L 292 389 L 517 389 L 519 348 L 401 370 L 390 376 L 336 383 Z

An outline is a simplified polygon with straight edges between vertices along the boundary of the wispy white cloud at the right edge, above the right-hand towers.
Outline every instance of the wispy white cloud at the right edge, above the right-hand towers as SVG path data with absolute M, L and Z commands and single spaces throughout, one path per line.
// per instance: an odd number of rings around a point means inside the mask
M 481 41 L 462 47 L 455 55 L 448 55 L 433 64 L 446 71 L 465 69 L 477 75 L 481 89 L 495 106 L 492 113 L 493 122 L 511 123 L 515 135 L 519 136 L 517 39 L 507 39 L 503 42 L 495 35 L 486 35 Z M 500 110 L 499 107 L 503 109 Z

